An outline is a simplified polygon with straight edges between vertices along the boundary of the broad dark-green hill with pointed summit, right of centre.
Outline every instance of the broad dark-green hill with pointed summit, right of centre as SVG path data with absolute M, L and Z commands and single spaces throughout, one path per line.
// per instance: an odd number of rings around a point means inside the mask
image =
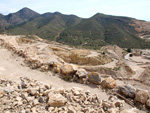
M 147 47 L 148 44 L 137 38 L 132 18 L 96 14 L 71 29 L 64 30 L 57 39 L 70 45 L 98 48 L 106 44 L 121 47 Z

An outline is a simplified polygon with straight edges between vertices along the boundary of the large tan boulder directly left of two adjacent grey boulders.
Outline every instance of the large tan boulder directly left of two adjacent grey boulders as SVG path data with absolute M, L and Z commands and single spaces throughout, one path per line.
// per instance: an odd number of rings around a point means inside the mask
M 77 67 L 72 64 L 65 64 L 61 67 L 61 72 L 63 75 L 73 74 L 77 71 Z

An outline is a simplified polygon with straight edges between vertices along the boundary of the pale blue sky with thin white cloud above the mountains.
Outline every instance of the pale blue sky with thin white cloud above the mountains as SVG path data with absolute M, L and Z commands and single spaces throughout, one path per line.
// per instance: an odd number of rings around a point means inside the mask
M 24 7 L 40 14 L 58 11 L 89 18 L 104 13 L 150 21 L 150 0 L 0 0 L 0 13 L 4 15 Z

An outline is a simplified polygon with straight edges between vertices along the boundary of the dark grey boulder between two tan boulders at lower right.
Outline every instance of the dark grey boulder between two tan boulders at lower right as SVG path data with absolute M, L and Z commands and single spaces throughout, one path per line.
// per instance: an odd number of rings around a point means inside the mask
M 125 97 L 135 98 L 136 89 L 131 85 L 119 86 L 119 92 Z

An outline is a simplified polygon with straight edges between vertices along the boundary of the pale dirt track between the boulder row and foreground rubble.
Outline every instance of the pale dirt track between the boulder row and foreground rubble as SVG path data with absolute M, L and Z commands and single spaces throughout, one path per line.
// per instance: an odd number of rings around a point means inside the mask
M 102 99 L 107 99 L 108 95 L 96 87 L 89 87 L 78 83 L 69 83 L 57 76 L 53 76 L 51 72 L 44 73 L 39 70 L 32 70 L 26 67 L 23 59 L 17 55 L 12 55 L 7 49 L 0 49 L 0 77 L 14 81 L 19 81 L 20 77 L 29 77 L 43 83 L 52 84 L 55 88 L 72 88 L 80 87 L 84 90 L 90 90 L 93 94 L 98 94 Z

